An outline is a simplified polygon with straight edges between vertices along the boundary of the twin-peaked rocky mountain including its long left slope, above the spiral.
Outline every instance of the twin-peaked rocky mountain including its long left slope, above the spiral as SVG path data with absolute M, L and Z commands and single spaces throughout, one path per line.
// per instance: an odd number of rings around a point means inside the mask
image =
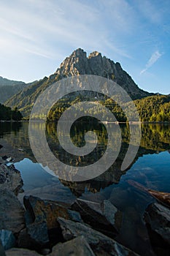
M 26 87 L 23 91 L 8 99 L 5 104 L 12 108 L 17 107 L 23 116 L 28 117 L 36 98 L 42 91 L 57 80 L 72 75 L 98 75 L 112 79 L 122 86 L 132 99 L 141 99 L 153 95 L 139 89 L 131 76 L 122 69 L 119 63 L 107 59 L 106 56 L 101 56 L 101 53 L 97 51 L 87 56 L 84 50 L 78 48 L 61 63 L 53 75 L 32 83 L 31 86 Z

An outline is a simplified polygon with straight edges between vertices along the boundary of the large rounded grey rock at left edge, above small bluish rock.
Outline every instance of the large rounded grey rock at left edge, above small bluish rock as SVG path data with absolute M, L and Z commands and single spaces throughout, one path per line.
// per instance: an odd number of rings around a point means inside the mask
M 24 209 L 9 189 L 0 189 L 0 229 L 19 233 L 25 227 Z

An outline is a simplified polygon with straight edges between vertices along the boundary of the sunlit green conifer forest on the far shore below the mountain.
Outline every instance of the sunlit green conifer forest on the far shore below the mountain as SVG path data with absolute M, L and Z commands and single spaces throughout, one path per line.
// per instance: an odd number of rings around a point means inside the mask
M 116 104 L 111 98 L 103 98 L 103 99 L 87 99 L 86 97 L 82 97 L 82 95 L 77 96 L 76 99 L 70 100 L 68 98 L 61 99 L 57 104 L 53 105 L 53 108 L 50 109 L 47 119 L 48 121 L 57 121 L 61 114 L 70 106 L 74 105 L 74 103 L 80 101 L 90 100 L 93 102 L 101 103 L 105 107 L 109 108 L 110 111 L 115 115 L 117 121 L 126 122 L 128 121 L 128 116 L 125 115 L 123 110 L 119 105 Z M 129 105 L 131 103 L 125 103 L 124 107 L 129 109 Z M 134 104 L 136 105 L 136 109 L 139 113 L 140 121 L 144 122 L 170 122 L 170 96 L 169 95 L 154 95 L 151 97 L 145 97 L 143 99 L 134 100 Z M 76 110 L 76 108 L 75 108 Z M 79 109 L 80 111 L 80 109 Z M 89 110 L 90 111 L 90 110 Z M 93 108 L 93 114 L 101 111 L 96 104 L 95 108 Z M 109 120 L 106 120 L 109 121 Z

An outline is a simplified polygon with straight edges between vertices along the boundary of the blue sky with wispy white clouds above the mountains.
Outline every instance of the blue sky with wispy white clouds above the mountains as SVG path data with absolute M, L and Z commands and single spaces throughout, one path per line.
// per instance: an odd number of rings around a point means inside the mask
M 0 75 L 49 76 L 77 48 L 120 62 L 138 86 L 170 93 L 169 0 L 0 0 Z

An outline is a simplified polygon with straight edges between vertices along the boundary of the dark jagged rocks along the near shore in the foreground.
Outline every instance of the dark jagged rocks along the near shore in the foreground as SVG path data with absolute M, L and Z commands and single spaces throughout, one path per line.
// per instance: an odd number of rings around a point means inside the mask
M 7 160 L 8 159 L 8 160 Z M 77 198 L 67 206 L 33 195 L 18 200 L 23 180 L 9 157 L 0 163 L 0 255 L 138 255 L 116 241 L 123 213 L 109 200 Z M 170 208 L 161 202 L 144 212 L 155 255 L 170 254 Z

